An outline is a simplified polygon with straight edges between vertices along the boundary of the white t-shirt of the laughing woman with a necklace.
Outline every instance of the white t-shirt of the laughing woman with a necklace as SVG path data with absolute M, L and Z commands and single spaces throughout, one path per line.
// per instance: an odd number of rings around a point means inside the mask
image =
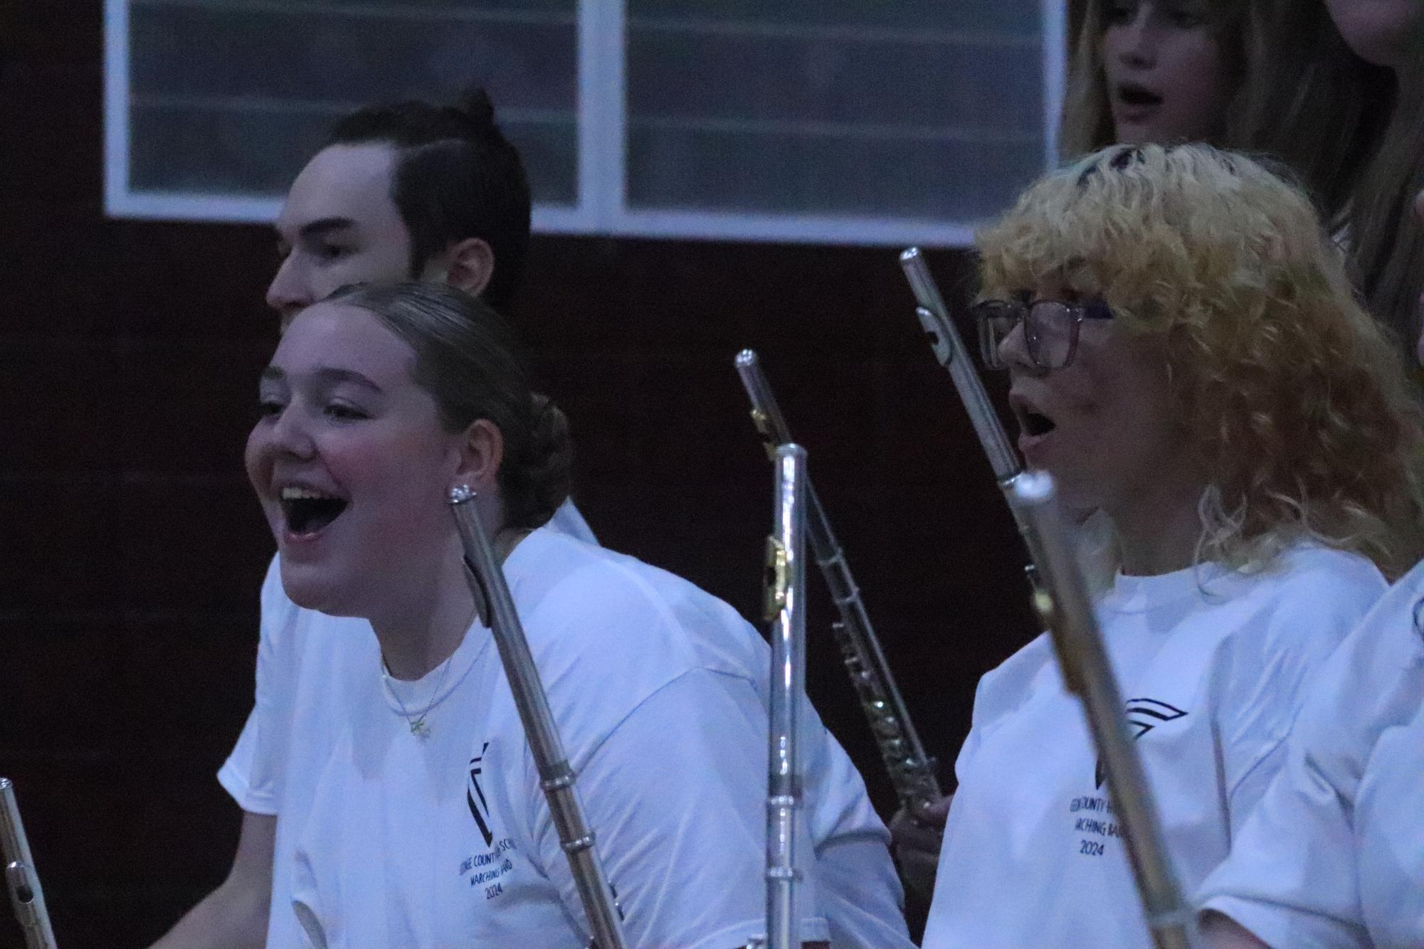
M 654 925 L 656 935 L 639 945 L 745 942 L 753 933 L 743 931 L 759 928 L 763 913 L 766 645 L 692 585 L 548 531 L 525 538 L 506 573 L 631 935 Z M 471 945 L 538 946 L 545 932 L 558 933 L 547 945 L 578 945 L 572 926 L 581 908 L 543 794 L 537 781 L 527 783 L 533 764 L 497 652 L 476 643 L 488 643 L 484 630 L 467 636 L 449 672 L 434 670 L 403 696 L 407 710 L 419 710 L 434 679 L 449 680 L 449 696 L 430 713 L 431 740 L 420 743 L 382 691 L 369 623 L 299 610 L 269 573 L 249 720 L 258 765 L 245 785 L 245 800 L 268 808 L 259 812 L 279 815 L 269 946 L 302 945 L 293 896 L 310 906 L 333 946 L 446 945 L 446 932 L 431 926 L 457 926 Z M 447 717 L 463 730 L 450 728 Z M 674 728 L 675 721 L 708 727 Z M 456 744 L 443 744 L 441 734 Z M 369 736 L 390 738 L 380 746 L 389 757 L 365 757 L 375 747 Z M 910 946 L 889 837 L 860 775 L 815 713 L 807 736 L 807 841 L 816 851 L 809 915 L 829 918 L 837 946 Z M 481 748 L 466 747 L 474 741 Z M 481 761 L 471 765 L 476 757 Z M 414 768 L 416 758 L 431 770 Z M 498 834 L 488 845 L 466 798 L 474 794 L 473 767 L 491 808 L 483 812 L 486 829 Z M 387 818 L 392 832 L 372 835 Z M 420 834 L 422 827 L 429 829 Z M 490 848 L 501 841 L 513 842 L 491 868 Z M 383 857 L 372 864 L 376 849 Z M 333 862 L 333 852 L 360 857 Z M 450 859 L 454 868 L 470 861 L 470 872 L 450 869 L 446 881 L 460 888 L 427 884 Z M 498 878 L 478 876 L 504 861 L 510 869 Z M 370 866 L 386 866 L 390 876 L 372 875 Z M 360 869 L 349 878 L 352 868 Z M 648 875 L 659 885 L 639 885 Z M 406 888 L 409 881 L 417 882 Z M 360 886 L 370 889 L 353 896 Z M 498 886 L 488 901 L 484 886 Z M 478 902 L 468 899 L 471 889 L 480 889 Z M 735 932 L 713 932 L 711 921 Z M 518 938 L 501 929 L 520 925 L 531 929 Z M 824 922 L 809 919 L 806 939 L 826 935 Z M 693 936 L 715 942 L 682 942 Z

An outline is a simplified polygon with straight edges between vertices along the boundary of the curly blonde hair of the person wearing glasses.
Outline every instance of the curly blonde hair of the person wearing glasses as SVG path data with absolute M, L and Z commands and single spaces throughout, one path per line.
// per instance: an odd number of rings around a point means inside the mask
M 1403 361 L 1294 185 L 1209 145 L 1112 147 L 1030 186 L 977 245 L 985 296 L 1067 280 L 1163 339 L 1209 475 L 1200 559 L 1257 569 L 1316 541 L 1393 579 L 1424 553 Z

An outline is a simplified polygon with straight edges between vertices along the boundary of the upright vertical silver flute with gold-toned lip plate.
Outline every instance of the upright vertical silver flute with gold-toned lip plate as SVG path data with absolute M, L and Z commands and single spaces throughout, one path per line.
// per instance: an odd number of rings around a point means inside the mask
M 776 448 L 773 524 L 766 538 L 770 625 L 770 727 L 766 778 L 766 945 L 800 945 L 796 919 L 796 817 L 802 808 L 800 703 L 806 691 L 806 450 Z

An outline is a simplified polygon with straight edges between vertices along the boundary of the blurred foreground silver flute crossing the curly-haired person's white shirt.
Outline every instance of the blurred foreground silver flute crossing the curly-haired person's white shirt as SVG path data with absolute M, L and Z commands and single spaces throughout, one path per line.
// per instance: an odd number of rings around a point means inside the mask
M 1152 940 L 1158 949 L 1189 949 L 1193 913 L 1168 859 L 1152 788 L 1128 733 L 1122 696 L 1054 498 L 1054 481 L 1047 472 L 1027 472 L 1008 497 L 1032 526 L 1040 580 L 1034 606 L 1052 636 L 1064 684 L 1087 713 Z

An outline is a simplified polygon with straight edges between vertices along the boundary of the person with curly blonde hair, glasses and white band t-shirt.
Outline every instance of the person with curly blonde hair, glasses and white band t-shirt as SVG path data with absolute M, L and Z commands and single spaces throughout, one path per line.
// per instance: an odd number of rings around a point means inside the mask
M 977 243 L 1020 448 L 1106 538 L 1099 623 L 1190 892 L 1424 549 L 1404 369 L 1309 199 L 1243 155 L 1112 147 Z M 956 770 L 927 949 L 1151 943 L 1045 636 L 980 682 Z

